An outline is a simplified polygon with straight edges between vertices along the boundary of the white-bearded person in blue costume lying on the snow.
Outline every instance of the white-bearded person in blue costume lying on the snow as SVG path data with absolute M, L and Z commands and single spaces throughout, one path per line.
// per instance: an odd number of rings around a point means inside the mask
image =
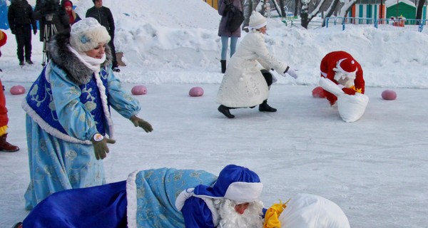
M 161 168 L 128 180 L 57 192 L 22 227 L 263 227 L 263 184 L 255 172 L 227 165 L 203 170 Z

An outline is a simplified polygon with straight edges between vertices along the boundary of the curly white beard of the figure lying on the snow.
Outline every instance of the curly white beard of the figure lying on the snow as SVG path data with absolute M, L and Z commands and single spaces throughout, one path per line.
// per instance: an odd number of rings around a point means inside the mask
M 215 207 L 220 215 L 219 228 L 260 228 L 263 227 L 263 203 L 251 202 L 244 214 L 235 211 L 235 202 L 230 199 L 215 199 Z

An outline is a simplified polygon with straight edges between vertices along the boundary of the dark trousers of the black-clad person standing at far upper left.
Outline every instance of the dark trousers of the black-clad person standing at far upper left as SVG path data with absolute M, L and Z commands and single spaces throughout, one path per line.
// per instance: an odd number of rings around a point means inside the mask
M 25 60 L 31 60 L 31 25 L 17 25 L 15 28 L 16 55 L 19 61 L 24 61 L 24 50 Z

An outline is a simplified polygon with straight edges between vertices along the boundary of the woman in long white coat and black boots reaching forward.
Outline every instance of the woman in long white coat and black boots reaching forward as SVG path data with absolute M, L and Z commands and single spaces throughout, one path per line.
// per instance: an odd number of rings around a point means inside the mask
M 249 33 L 230 58 L 216 99 L 220 103 L 218 111 L 228 118 L 235 118 L 235 115 L 230 114 L 232 108 L 254 108 L 259 105 L 260 112 L 276 112 L 275 108 L 267 105 L 272 74 L 265 69 L 275 69 L 282 76 L 288 73 L 297 78 L 295 71 L 267 51 L 266 24 L 265 17 L 258 11 L 253 11 L 248 26 Z M 258 63 L 265 69 L 260 71 Z

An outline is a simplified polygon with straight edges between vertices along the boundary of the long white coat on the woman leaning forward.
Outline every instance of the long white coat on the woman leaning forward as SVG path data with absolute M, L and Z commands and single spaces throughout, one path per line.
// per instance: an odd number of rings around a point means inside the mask
M 264 34 L 253 29 L 230 58 L 215 101 L 229 108 L 252 107 L 263 103 L 269 96 L 269 88 L 258 63 L 265 69 L 273 68 L 280 73 L 288 67 L 267 51 Z

